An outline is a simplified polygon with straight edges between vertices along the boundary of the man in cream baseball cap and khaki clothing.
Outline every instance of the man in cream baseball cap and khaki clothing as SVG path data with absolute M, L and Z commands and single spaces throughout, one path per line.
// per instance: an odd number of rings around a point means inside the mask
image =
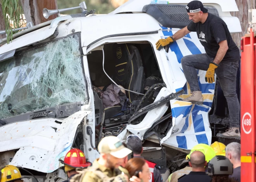
M 122 168 L 125 158 L 131 153 L 116 136 L 104 137 L 99 145 L 100 158 L 87 168 L 82 182 L 106 182 L 108 179 L 122 182 L 141 182 L 138 177 L 128 179 L 128 171 Z

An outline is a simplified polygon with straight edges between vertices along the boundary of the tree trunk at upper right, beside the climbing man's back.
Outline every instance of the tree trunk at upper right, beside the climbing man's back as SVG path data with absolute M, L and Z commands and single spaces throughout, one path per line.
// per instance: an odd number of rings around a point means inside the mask
M 256 6 L 255 6 L 255 0 L 235 0 L 235 2 L 237 3 L 239 12 L 231 12 L 231 15 L 238 17 L 238 19 L 240 20 L 240 24 L 242 26 L 242 32 L 239 34 L 231 34 L 231 36 L 240 49 L 241 37 L 247 33 L 247 29 L 249 27 L 248 9 L 256 9 Z

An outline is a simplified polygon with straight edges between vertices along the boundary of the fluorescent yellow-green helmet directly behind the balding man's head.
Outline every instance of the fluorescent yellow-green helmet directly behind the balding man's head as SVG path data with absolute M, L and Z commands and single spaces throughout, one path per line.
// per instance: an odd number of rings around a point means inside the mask
M 190 159 L 190 155 L 194 151 L 201 151 L 205 155 L 205 160 L 207 162 L 209 162 L 214 156 L 216 156 L 215 151 L 213 150 L 213 148 L 211 148 L 211 146 L 206 145 L 204 143 L 200 143 L 190 150 L 190 153 L 186 156 L 187 160 Z

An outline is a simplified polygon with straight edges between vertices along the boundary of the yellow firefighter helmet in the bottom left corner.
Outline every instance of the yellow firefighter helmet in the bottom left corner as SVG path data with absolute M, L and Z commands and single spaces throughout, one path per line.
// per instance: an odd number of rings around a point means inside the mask
M 21 172 L 19 172 L 19 169 L 13 165 L 6 165 L 0 171 L 0 182 L 11 182 L 20 180 L 22 178 L 28 177 L 22 177 Z

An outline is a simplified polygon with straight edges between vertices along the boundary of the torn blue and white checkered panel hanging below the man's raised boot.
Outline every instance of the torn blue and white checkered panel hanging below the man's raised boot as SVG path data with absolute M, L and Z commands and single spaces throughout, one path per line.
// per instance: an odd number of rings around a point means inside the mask
M 188 150 L 199 143 L 210 145 L 211 128 L 208 120 L 210 110 L 208 106 L 171 100 L 174 133 L 164 143 Z

